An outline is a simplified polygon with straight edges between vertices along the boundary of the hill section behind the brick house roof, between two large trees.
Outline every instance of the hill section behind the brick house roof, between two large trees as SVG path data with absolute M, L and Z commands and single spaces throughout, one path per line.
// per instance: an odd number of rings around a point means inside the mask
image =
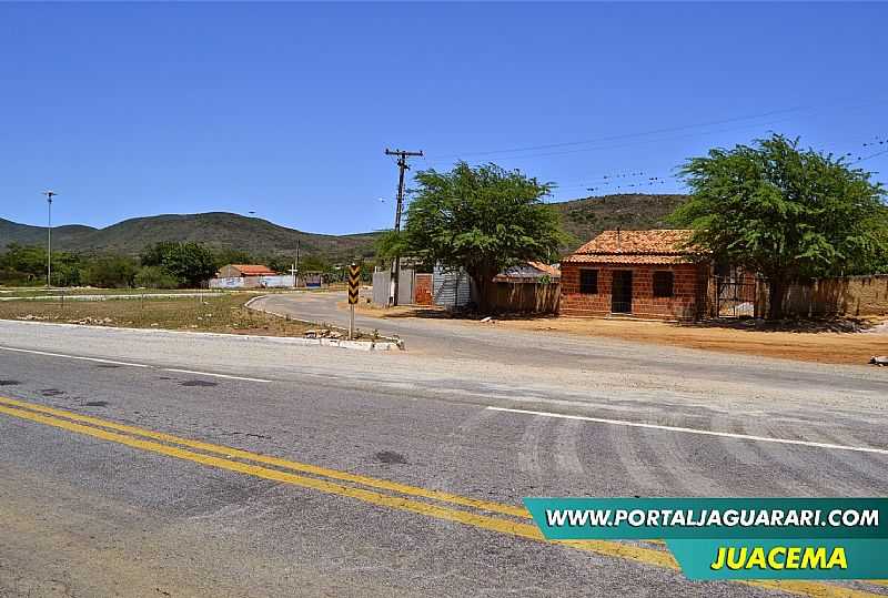
M 666 222 L 687 195 L 619 194 L 551 204 L 562 215 L 562 225 L 575 239 L 564 247 L 573 251 L 602 231 L 674 229 Z

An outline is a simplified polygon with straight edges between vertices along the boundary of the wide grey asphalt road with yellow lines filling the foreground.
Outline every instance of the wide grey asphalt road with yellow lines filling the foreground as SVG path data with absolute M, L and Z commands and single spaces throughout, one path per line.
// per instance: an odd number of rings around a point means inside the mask
M 475 334 L 366 354 L 0 322 L 0 596 L 775 595 L 655 545 L 547 545 L 521 498 L 888 493 L 884 369 Z

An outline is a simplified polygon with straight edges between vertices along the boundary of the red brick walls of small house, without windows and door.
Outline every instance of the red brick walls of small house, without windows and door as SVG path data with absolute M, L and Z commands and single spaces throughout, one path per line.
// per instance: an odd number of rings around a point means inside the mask
M 598 271 L 598 292 L 579 293 L 579 271 Z M 615 270 L 630 270 L 632 314 L 664 320 L 696 320 L 706 305 L 707 266 L 697 264 L 627 264 L 562 263 L 559 313 L 573 316 L 603 316 L 610 313 L 610 285 Z M 673 296 L 654 296 L 654 272 L 672 271 Z M 627 314 L 628 315 L 628 314 Z

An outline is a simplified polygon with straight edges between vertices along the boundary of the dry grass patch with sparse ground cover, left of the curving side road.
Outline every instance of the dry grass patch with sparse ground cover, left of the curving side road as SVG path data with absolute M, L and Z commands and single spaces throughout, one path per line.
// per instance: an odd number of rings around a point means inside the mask
M 251 293 L 113 301 L 0 302 L 0 318 L 174 331 L 302 336 L 313 326 L 244 307 Z

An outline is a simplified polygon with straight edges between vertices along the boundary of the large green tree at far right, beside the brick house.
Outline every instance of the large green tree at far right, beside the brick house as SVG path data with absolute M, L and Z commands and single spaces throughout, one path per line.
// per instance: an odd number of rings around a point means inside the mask
M 715 149 L 682 168 L 690 200 L 673 214 L 693 243 L 760 273 L 768 318 L 783 317 L 788 286 L 872 272 L 886 250 L 885 191 L 844 159 L 783 135 Z

